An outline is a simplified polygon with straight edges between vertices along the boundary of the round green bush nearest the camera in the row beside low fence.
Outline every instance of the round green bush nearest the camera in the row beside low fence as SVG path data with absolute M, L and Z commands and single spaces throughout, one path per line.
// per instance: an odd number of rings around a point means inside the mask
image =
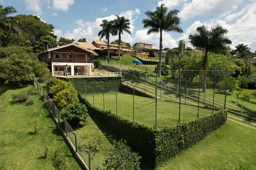
M 85 105 L 78 102 L 68 104 L 60 111 L 60 115 L 72 125 L 77 125 L 80 121 L 85 122 L 86 118 L 89 116 Z

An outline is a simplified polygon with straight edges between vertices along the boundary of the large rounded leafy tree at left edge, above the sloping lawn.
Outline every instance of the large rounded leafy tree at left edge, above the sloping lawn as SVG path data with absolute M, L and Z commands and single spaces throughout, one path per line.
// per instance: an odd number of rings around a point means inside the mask
M 33 67 L 38 63 L 38 59 L 34 54 L 27 52 L 30 49 L 20 51 L 19 48 L 19 46 L 11 46 L 1 49 L 1 51 L 8 51 L 8 55 L 2 55 L 4 58 L 0 58 L 0 78 L 4 80 L 5 84 L 10 83 L 22 86 L 31 81 Z

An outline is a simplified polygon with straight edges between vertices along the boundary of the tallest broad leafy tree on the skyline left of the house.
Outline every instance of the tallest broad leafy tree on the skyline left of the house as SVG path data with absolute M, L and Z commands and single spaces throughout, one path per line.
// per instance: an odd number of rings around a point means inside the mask
M 36 15 L 16 15 L 14 18 L 19 21 L 18 26 L 23 36 L 31 42 L 32 46 L 42 36 L 50 35 L 55 39 L 57 38 L 53 34 L 53 25 L 44 23 Z

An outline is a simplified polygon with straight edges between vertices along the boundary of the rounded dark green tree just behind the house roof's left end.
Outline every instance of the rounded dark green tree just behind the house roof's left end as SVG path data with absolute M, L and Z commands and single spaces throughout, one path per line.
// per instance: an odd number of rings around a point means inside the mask
M 34 43 L 34 52 L 35 53 L 40 53 L 44 51 L 46 48 L 53 48 L 58 45 L 56 39 L 50 35 L 42 36 L 38 39 L 38 41 L 35 41 Z

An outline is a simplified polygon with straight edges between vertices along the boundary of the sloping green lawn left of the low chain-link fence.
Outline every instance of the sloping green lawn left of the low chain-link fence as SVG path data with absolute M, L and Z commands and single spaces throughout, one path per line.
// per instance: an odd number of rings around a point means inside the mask
M 35 101 L 32 106 L 12 102 L 12 94 L 31 86 L 13 88 L 0 84 L 0 169 L 54 169 L 54 151 L 64 156 L 67 169 L 82 169 L 39 95 L 30 96 Z M 41 124 L 38 134 L 31 127 L 35 119 Z M 42 158 L 43 144 L 49 147 L 46 159 Z

